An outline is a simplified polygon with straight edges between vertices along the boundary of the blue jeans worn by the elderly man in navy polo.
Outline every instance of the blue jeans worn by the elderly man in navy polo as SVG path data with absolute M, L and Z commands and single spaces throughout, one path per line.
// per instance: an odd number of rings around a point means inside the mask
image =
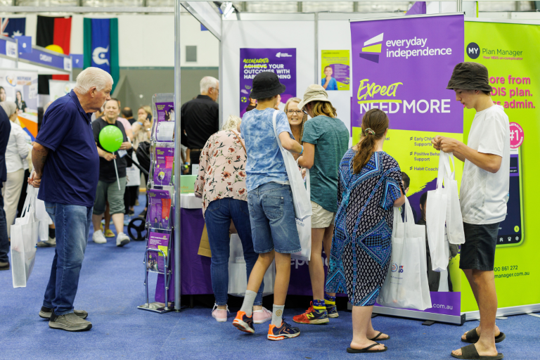
M 45 209 L 56 227 L 56 250 L 43 306 L 60 316 L 73 312 L 92 207 L 45 202 Z

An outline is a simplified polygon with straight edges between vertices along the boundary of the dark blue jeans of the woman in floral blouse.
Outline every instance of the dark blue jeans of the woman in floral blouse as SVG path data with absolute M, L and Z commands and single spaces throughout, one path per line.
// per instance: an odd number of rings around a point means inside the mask
M 224 198 L 212 201 L 205 212 L 208 242 L 212 251 L 212 263 L 210 274 L 212 275 L 212 290 L 216 297 L 217 305 L 227 304 L 227 289 L 229 288 L 229 253 L 231 251 L 229 238 L 229 226 L 233 219 L 236 231 L 242 242 L 244 251 L 245 267 L 250 278 L 251 270 L 257 262 L 259 255 L 253 250 L 251 238 L 250 212 L 248 203 L 243 200 Z M 255 297 L 254 306 L 262 305 L 262 291 L 264 282 L 261 283 L 259 293 Z

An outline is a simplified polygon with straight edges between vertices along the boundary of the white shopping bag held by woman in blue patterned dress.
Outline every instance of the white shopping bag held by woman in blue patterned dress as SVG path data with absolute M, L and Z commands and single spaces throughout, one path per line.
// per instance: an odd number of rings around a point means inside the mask
M 425 257 L 425 226 L 415 225 L 409 200 L 405 221 L 394 207 L 392 259 L 377 302 L 385 307 L 425 310 L 432 307 Z

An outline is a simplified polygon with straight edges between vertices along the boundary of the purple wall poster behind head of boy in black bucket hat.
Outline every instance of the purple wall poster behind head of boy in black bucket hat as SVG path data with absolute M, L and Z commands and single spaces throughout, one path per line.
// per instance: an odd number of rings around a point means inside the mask
M 256 104 L 250 98 L 251 86 L 255 75 L 263 71 L 275 72 L 285 85 L 282 103 L 296 96 L 296 49 L 240 49 L 240 117 Z

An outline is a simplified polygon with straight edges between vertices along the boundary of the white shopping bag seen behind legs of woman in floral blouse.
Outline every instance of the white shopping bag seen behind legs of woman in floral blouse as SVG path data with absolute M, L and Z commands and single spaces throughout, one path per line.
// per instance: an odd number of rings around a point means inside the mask
M 264 290 L 262 295 L 274 293 L 274 281 L 276 280 L 276 265 L 270 265 L 264 274 Z M 244 251 L 238 234 L 231 235 L 231 250 L 229 253 L 229 289 L 227 293 L 233 296 L 243 297 L 248 288 L 248 274 L 246 273 Z

